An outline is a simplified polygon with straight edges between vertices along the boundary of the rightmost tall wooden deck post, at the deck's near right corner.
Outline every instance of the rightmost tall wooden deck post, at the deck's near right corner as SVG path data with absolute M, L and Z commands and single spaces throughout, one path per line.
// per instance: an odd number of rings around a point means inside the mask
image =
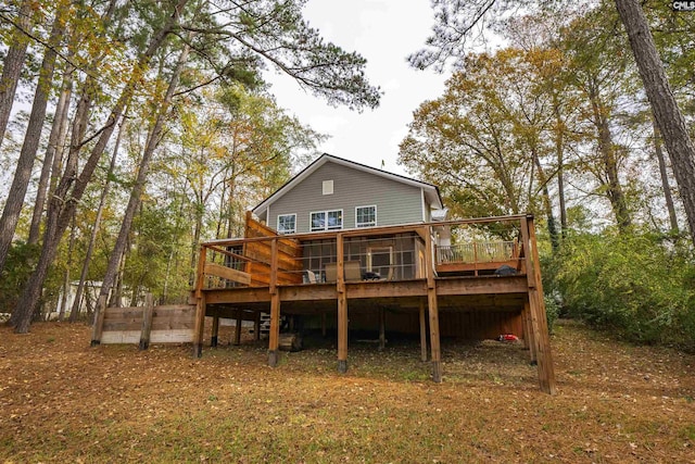
M 529 314 L 531 316 L 531 327 L 536 350 L 535 354 L 539 366 L 539 380 L 541 384 L 541 390 L 549 394 L 555 394 L 555 371 L 553 367 L 551 341 L 547 331 L 545 302 L 543 300 L 543 283 L 541 281 L 541 269 L 535 242 L 533 216 L 521 218 L 521 236 L 523 239 L 523 249 L 526 251 L 526 274 L 529 285 Z

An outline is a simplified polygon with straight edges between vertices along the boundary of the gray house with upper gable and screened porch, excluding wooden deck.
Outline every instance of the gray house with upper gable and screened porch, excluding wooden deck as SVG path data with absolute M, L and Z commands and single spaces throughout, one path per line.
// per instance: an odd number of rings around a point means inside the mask
M 336 239 L 319 233 L 417 224 L 445 218 L 437 186 L 323 154 L 253 209 L 280 234 L 317 234 L 303 240 L 303 268 L 312 281 L 334 279 Z M 435 240 L 441 242 L 440 233 Z M 417 234 L 351 237 L 346 266 L 357 278 L 422 277 L 425 244 Z

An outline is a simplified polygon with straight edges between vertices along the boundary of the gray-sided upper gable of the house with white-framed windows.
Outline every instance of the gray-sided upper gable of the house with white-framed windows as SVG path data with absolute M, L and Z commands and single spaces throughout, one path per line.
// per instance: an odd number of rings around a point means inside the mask
M 253 209 L 280 234 L 352 229 L 432 221 L 437 186 L 323 154 Z

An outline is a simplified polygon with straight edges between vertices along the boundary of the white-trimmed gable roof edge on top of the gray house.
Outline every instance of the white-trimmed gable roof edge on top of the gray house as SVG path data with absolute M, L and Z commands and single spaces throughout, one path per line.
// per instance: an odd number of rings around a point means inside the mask
M 277 189 L 273 195 L 270 195 L 270 197 L 266 198 L 261 203 L 258 203 L 258 205 L 252 210 L 253 213 L 256 215 L 263 214 L 271 203 L 274 203 L 276 200 L 278 200 L 279 198 L 285 196 L 287 192 L 292 190 L 294 186 L 302 183 L 306 177 L 308 177 L 312 173 L 314 173 L 320 166 L 329 162 L 340 164 L 341 166 L 352 167 L 357 171 L 375 174 L 391 180 L 395 180 L 405 185 L 420 188 L 425 192 L 425 196 L 429 204 L 440 210 L 443 208 L 442 197 L 439 193 L 439 187 L 437 187 L 433 184 L 401 176 L 399 174 L 388 173 L 382 170 L 377 170 L 376 167 L 367 166 L 365 164 L 356 163 L 354 161 L 350 161 L 343 158 L 333 156 L 332 154 L 324 153 L 316 161 L 314 161 L 312 164 L 306 166 L 301 173 L 292 177 L 282 187 Z

